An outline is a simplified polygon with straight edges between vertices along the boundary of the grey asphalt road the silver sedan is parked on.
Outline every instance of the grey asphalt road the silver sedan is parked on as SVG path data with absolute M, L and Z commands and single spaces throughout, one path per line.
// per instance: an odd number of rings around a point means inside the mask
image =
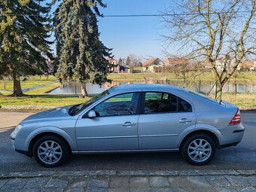
M 73 155 L 62 166 L 47 169 L 14 151 L 9 136 L 28 113 L 0 112 L 0 173 L 78 170 L 178 170 L 178 169 L 256 169 L 256 111 L 242 112 L 246 130 L 236 147 L 216 151 L 206 166 L 191 166 L 175 153 Z

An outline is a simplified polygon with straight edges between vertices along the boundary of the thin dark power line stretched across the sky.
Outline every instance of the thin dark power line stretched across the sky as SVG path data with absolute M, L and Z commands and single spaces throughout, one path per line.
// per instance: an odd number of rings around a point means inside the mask
M 236 13 L 250 13 L 251 11 L 237 11 Z M 209 14 L 226 14 L 225 12 L 209 13 Z M 3 14 L 2 14 L 3 15 Z M 29 17 L 53 17 L 54 14 L 5 14 L 8 16 L 29 16 Z M 168 16 L 185 16 L 185 15 L 197 15 L 197 13 L 191 14 L 117 14 L 117 15 L 102 15 L 102 17 L 168 17 Z M 74 17 L 91 17 L 90 15 L 73 15 Z M 100 16 L 96 16 L 100 17 Z

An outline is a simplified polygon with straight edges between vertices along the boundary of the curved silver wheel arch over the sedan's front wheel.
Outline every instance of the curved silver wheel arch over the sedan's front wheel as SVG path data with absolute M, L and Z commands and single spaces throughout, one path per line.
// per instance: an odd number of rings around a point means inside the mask
M 32 133 L 30 133 L 29 136 L 27 136 L 26 141 L 24 143 L 26 151 L 29 151 L 29 144 L 32 141 L 32 139 L 41 133 L 56 133 L 59 136 L 62 136 L 64 139 L 66 139 L 72 151 L 78 151 L 77 145 L 75 141 L 73 141 L 71 136 L 69 136 L 68 133 L 66 133 L 65 131 L 56 126 L 41 126 L 40 128 L 32 131 Z

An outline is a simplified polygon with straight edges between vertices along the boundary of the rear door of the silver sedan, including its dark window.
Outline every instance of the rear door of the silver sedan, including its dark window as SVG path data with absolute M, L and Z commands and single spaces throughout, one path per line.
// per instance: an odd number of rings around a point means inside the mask
M 189 102 L 165 92 L 145 92 L 139 116 L 139 148 L 172 149 L 178 135 L 194 125 L 196 116 Z

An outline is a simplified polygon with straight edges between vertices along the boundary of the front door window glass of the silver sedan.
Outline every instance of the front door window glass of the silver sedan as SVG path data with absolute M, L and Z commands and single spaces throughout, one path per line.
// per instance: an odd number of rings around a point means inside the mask
M 136 114 L 139 93 L 125 93 L 113 96 L 95 107 L 97 116 Z

